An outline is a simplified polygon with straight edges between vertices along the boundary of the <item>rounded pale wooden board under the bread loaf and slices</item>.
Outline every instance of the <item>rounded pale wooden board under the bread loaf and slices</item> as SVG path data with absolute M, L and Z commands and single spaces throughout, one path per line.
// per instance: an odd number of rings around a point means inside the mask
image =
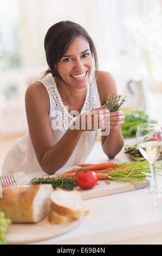
M 8 233 L 8 244 L 15 245 L 21 243 L 30 243 L 42 241 L 62 235 L 74 229 L 82 220 L 75 220 L 65 224 L 50 224 L 48 218 L 44 218 L 41 222 L 11 224 Z

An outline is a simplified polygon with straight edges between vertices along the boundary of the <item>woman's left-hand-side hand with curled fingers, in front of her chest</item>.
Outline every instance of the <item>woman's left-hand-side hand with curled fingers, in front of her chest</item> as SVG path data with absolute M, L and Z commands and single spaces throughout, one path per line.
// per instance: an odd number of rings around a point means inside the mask
M 74 123 L 70 125 L 69 129 L 75 130 L 77 133 L 102 129 L 106 126 L 108 117 L 108 108 L 103 108 L 102 106 L 100 108 L 90 109 L 89 111 L 79 115 Z

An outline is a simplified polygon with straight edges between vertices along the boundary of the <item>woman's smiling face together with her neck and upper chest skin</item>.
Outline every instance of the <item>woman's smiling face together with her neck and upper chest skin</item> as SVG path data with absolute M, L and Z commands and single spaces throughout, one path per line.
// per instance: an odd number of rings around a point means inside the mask
M 85 48 L 86 50 L 82 51 Z M 64 105 L 68 105 L 69 111 L 75 109 L 80 113 L 85 101 L 87 83 L 93 69 L 93 57 L 87 48 L 89 48 L 87 40 L 81 35 L 77 36 L 69 46 L 66 55 L 63 55 L 57 64 L 61 80 L 56 78 L 56 84 L 66 101 Z M 75 95 L 74 99 L 70 96 L 72 94 Z

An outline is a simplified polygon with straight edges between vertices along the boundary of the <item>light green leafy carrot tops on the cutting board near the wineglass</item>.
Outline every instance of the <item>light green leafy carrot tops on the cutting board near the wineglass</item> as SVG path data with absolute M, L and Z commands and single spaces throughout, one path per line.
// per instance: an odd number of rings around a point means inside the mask
M 125 167 L 125 168 L 116 170 L 116 169 L 119 169 L 120 167 Z M 159 166 L 156 166 L 155 168 L 161 169 L 161 167 Z M 158 171 L 156 171 L 156 173 L 157 172 Z M 151 174 L 150 164 L 148 163 L 148 161 L 143 159 L 139 159 L 138 161 L 133 163 L 131 162 L 117 163 L 117 167 L 102 173 L 108 174 L 109 180 L 115 180 L 120 182 L 124 181 L 124 182 L 129 182 L 131 184 L 137 184 L 142 181 L 147 181 L 147 178 L 151 177 L 151 175 L 148 175 L 148 174 Z M 157 175 L 160 175 L 160 174 L 157 174 Z

